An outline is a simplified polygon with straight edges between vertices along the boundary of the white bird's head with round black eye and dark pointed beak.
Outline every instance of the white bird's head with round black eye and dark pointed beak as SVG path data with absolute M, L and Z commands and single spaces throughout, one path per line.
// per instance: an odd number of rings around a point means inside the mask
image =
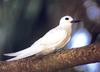
M 78 23 L 80 20 L 74 20 L 71 16 L 64 16 L 60 19 L 61 26 L 71 26 L 73 23 Z

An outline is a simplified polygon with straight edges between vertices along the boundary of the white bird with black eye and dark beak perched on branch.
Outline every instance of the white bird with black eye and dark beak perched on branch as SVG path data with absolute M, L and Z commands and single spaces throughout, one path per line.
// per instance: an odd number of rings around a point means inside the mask
M 71 16 L 63 16 L 60 19 L 59 25 L 49 30 L 30 47 L 14 53 L 5 53 L 5 56 L 13 57 L 6 61 L 19 60 L 32 55 L 47 55 L 62 49 L 71 38 L 72 24 L 78 22 L 80 22 L 80 20 L 74 20 Z

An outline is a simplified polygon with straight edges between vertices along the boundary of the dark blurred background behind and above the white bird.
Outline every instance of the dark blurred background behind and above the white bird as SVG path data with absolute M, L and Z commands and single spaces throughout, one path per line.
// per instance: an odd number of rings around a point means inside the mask
M 73 30 L 84 26 L 90 43 L 100 41 L 100 0 L 0 0 L 0 59 L 32 45 L 65 15 L 81 19 Z

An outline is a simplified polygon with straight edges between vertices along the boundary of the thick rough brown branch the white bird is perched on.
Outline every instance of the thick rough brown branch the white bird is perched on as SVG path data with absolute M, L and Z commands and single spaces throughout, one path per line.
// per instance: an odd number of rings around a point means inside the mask
M 12 62 L 0 62 L 1 72 L 54 72 L 82 64 L 100 61 L 100 44 L 65 49 L 41 58 L 29 57 Z

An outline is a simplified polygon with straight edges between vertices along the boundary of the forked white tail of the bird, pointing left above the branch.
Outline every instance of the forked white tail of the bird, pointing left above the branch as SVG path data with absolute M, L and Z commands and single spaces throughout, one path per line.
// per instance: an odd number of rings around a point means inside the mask
M 21 50 L 21 51 L 15 52 L 15 53 L 7 53 L 4 55 L 5 56 L 15 56 L 14 58 L 6 60 L 6 61 L 13 61 L 13 60 L 22 59 L 22 58 L 26 58 L 26 57 L 32 56 L 34 54 L 37 54 L 37 53 L 41 52 L 41 49 L 42 48 L 29 47 L 29 48 L 26 48 L 24 50 Z

